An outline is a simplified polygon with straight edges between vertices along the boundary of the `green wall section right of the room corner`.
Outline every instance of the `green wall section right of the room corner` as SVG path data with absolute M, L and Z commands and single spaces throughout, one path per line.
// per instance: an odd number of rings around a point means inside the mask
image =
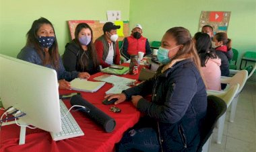
M 161 40 L 174 26 L 187 28 L 193 36 L 199 30 L 201 11 L 231 11 L 228 37 L 232 46 L 240 57 L 245 51 L 256 52 L 255 0 L 130 0 L 129 23 L 141 24 L 143 36 L 150 41 Z

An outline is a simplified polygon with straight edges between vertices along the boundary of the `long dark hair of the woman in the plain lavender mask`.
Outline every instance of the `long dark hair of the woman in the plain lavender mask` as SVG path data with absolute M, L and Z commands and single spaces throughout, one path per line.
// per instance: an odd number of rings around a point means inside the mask
M 96 49 L 95 49 L 94 40 L 93 40 L 94 35 L 93 35 L 93 32 L 92 32 L 92 28 L 90 28 L 90 26 L 88 24 L 80 23 L 76 26 L 76 28 L 75 28 L 75 42 L 77 44 L 79 44 L 80 50 L 83 50 L 82 45 L 80 44 L 79 38 L 78 38 L 78 34 L 83 28 L 88 28 L 91 31 L 92 38 L 91 38 L 91 42 L 87 45 L 87 47 L 88 47 L 87 51 L 89 52 L 89 56 L 90 56 L 90 57 L 88 56 L 89 59 L 91 58 L 92 62 L 94 63 L 94 68 L 97 68 L 98 67 L 98 61 L 97 61 L 97 54 L 96 54 Z M 79 51 L 79 53 L 81 53 L 81 52 Z M 79 56 L 81 56 L 81 55 L 82 54 L 80 54 Z M 82 59 L 79 60 L 78 65 L 79 65 L 79 67 L 83 67 L 84 69 L 82 69 L 82 71 L 84 71 L 84 70 L 87 70 L 86 68 L 88 67 L 88 60 L 89 59 L 87 59 L 86 56 L 81 56 L 81 57 L 82 57 Z

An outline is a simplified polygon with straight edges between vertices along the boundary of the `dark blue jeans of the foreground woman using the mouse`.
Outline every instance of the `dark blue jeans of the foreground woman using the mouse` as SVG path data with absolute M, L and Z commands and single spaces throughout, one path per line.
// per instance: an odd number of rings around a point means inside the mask
M 158 134 L 154 128 L 132 128 L 125 132 L 120 143 L 117 144 L 117 151 L 160 151 Z

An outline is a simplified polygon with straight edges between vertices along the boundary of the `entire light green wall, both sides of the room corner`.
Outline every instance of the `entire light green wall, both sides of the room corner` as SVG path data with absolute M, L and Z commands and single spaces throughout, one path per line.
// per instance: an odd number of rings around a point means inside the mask
M 106 20 L 107 10 L 121 10 L 122 20 L 129 20 L 131 26 L 141 24 L 150 41 L 161 40 L 174 26 L 184 26 L 195 34 L 201 11 L 231 11 L 228 36 L 233 47 L 240 57 L 245 51 L 256 51 L 255 0 L 0 0 L 0 53 L 16 56 L 26 43 L 32 22 L 42 16 L 54 24 L 62 54 L 70 40 L 67 20 Z

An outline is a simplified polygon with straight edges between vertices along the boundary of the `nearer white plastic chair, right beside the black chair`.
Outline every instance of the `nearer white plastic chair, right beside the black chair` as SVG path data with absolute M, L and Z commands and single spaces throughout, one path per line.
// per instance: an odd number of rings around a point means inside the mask
M 230 104 L 232 103 L 232 100 L 236 96 L 239 86 L 240 86 L 239 83 L 230 85 L 230 87 L 228 87 L 228 89 L 226 89 L 225 91 L 215 91 L 215 90 L 208 89 L 207 96 L 214 95 L 214 96 L 221 98 L 222 100 L 224 100 L 224 102 L 226 102 L 226 106 L 228 108 L 228 106 L 230 106 Z M 225 117 L 226 117 L 226 112 L 218 120 L 217 143 L 219 143 L 219 144 L 222 142 Z

